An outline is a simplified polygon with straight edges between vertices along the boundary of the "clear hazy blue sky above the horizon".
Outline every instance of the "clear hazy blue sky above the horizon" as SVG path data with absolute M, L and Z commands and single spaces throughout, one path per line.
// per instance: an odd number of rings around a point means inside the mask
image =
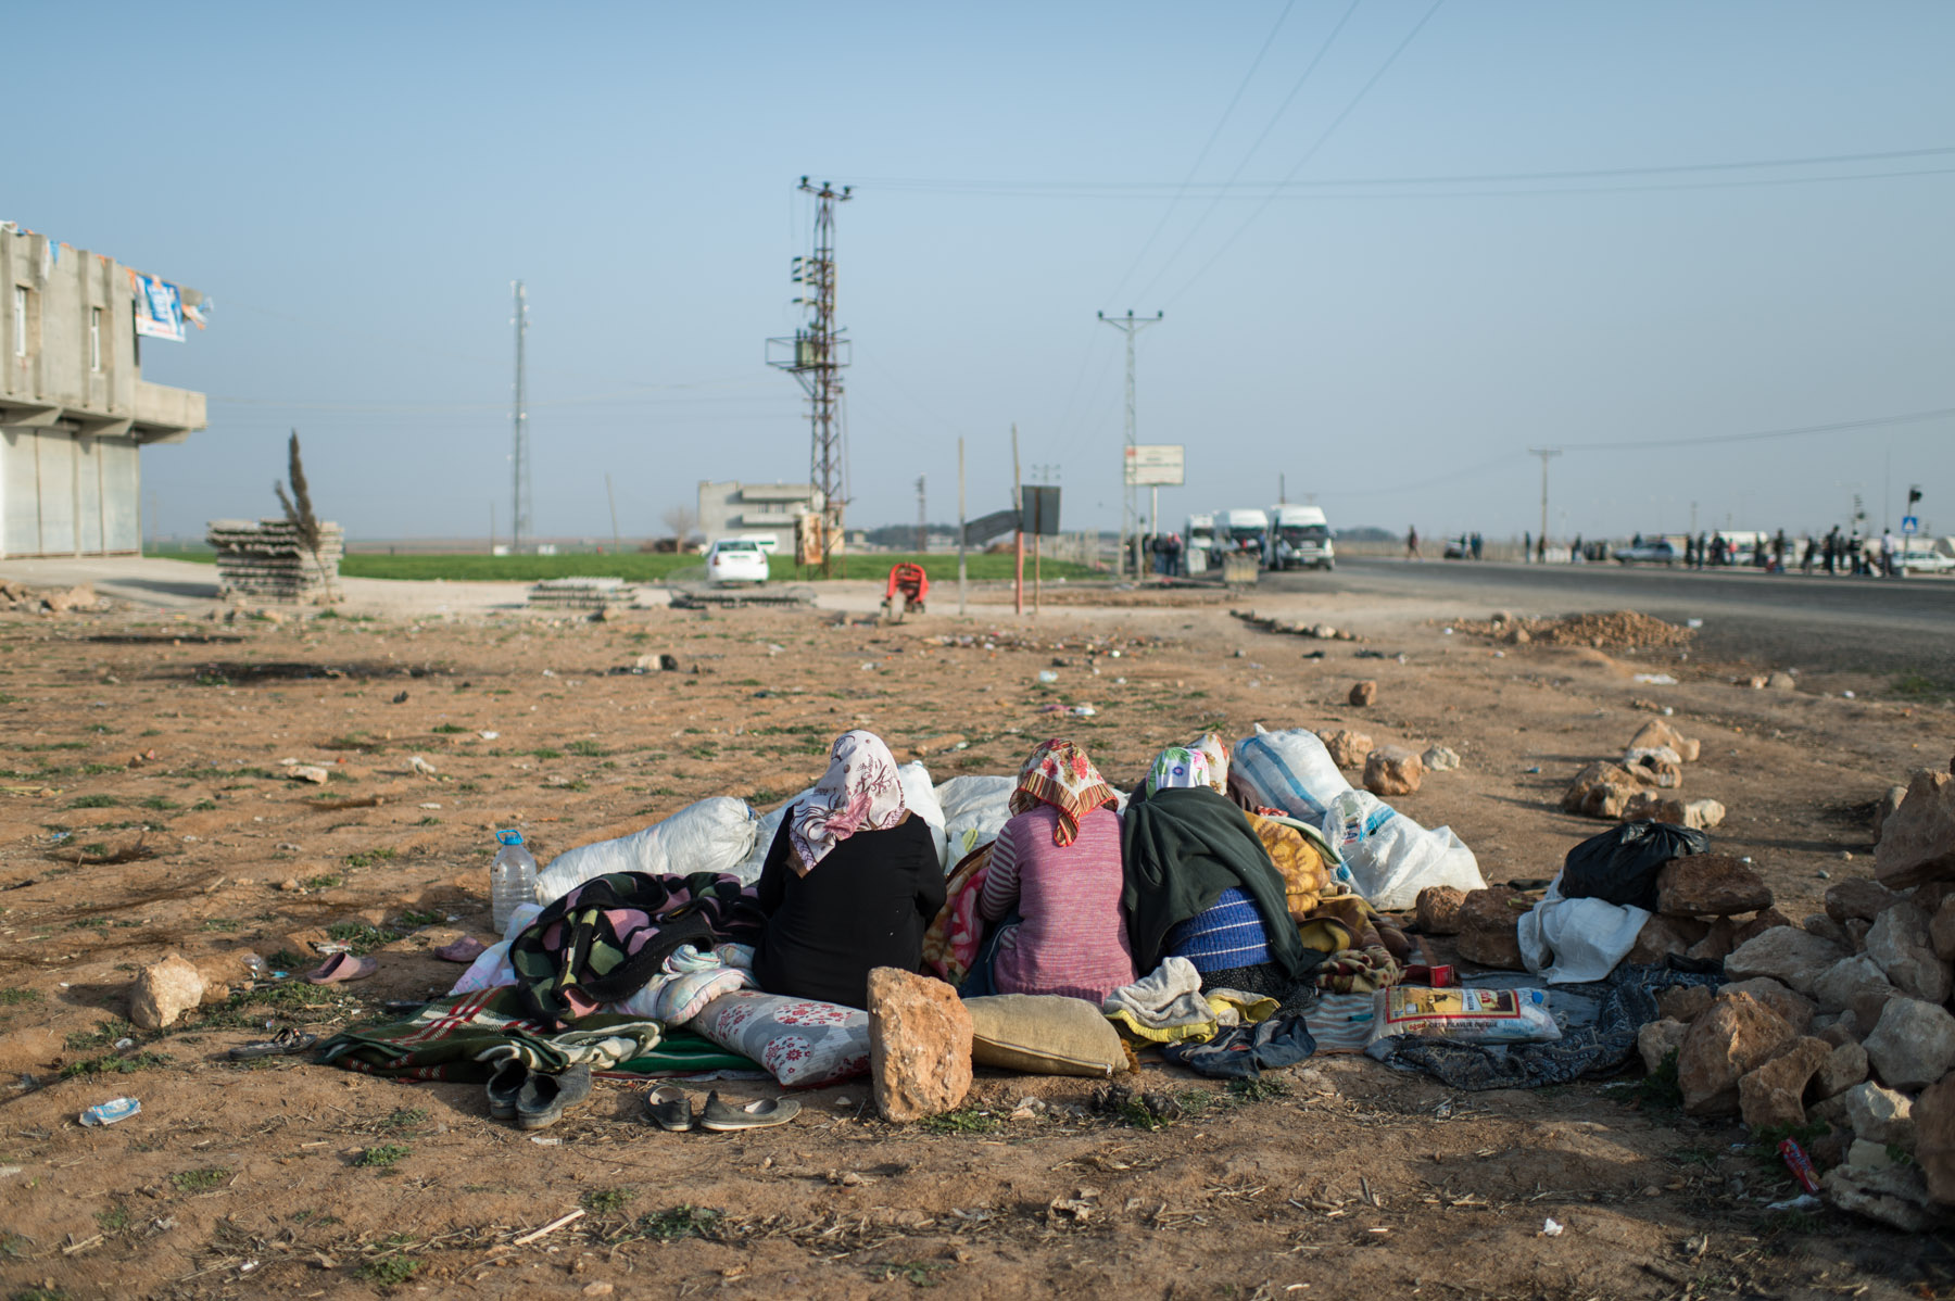
M 39 27 L 35 37 L 33 29 Z M 276 514 L 293 428 L 356 539 L 510 512 L 663 531 L 805 481 L 764 340 L 837 215 L 848 522 L 1026 481 L 1118 527 L 1138 441 L 1189 512 L 1425 535 L 1955 531 L 1955 6 L 78 4 L 16 14 L 0 217 L 203 291 L 145 377 L 152 533 Z M 76 78 L 82 84 L 76 84 Z M 86 94 L 76 94 L 86 90 Z M 25 123 L 27 129 L 20 129 Z M 39 123 L 39 125 L 35 125 Z M 1922 412 L 1943 412 L 1918 418 Z M 1898 418 L 1898 420 L 1896 420 Z M 1881 424 L 1869 424 L 1881 422 Z M 1793 430 L 1820 430 L 1791 434 Z M 1752 438 L 1761 436 L 1761 438 Z M 1142 494 L 1142 510 L 1148 510 Z

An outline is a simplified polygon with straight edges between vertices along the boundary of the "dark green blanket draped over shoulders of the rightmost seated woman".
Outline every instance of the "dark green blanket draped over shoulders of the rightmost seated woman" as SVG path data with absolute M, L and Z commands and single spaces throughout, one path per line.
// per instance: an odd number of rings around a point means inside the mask
M 1120 818 L 1134 965 L 1153 971 L 1167 932 L 1214 906 L 1226 889 L 1255 901 L 1269 938 L 1269 957 L 1286 977 L 1306 971 L 1304 945 L 1282 897 L 1282 875 L 1241 809 L 1208 787 L 1169 787 L 1142 799 Z

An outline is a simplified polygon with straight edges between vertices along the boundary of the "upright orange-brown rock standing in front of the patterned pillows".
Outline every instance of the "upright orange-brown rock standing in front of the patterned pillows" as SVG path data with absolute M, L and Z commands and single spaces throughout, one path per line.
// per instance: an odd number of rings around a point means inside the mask
M 972 1014 L 942 981 L 868 973 L 868 1067 L 884 1119 L 954 1110 L 972 1088 Z

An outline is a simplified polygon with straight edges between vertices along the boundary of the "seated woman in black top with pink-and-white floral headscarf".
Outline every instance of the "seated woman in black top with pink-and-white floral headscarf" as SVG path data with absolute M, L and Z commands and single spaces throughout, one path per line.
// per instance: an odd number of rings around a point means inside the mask
M 880 736 L 835 738 L 829 772 L 780 820 L 759 897 L 766 932 L 753 975 L 770 994 L 860 1008 L 872 967 L 921 965 L 944 869 Z

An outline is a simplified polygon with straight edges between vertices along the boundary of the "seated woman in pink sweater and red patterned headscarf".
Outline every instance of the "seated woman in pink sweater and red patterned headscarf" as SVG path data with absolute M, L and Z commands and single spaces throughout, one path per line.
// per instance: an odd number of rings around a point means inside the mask
M 1134 983 L 1120 908 L 1120 815 L 1085 750 L 1048 740 L 1019 772 L 978 910 L 999 922 L 991 988 L 1095 1006 Z

